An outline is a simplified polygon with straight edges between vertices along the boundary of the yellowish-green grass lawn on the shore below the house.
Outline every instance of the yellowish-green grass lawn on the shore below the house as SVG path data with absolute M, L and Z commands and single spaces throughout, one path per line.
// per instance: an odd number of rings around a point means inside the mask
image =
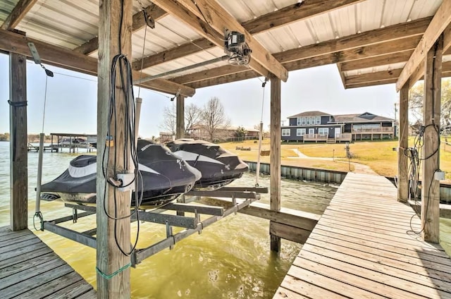
M 414 138 L 409 138 L 409 146 L 414 143 Z M 222 147 L 238 154 L 247 161 L 257 161 L 258 141 L 247 140 L 243 142 L 226 142 Z M 235 147 L 251 147 L 250 151 L 236 150 Z M 354 154 L 352 162 L 370 166 L 373 171 L 382 176 L 395 176 L 397 174 L 397 152 L 393 150 L 397 147 L 395 141 L 358 141 L 350 144 L 350 152 Z M 269 150 L 269 139 L 263 140 L 261 149 Z M 296 159 L 293 150 L 299 150 L 309 157 L 332 158 L 338 161 L 328 161 L 323 159 Z M 283 143 L 281 148 L 282 164 L 312 167 L 319 169 L 330 169 L 336 171 L 349 171 L 346 159 L 345 144 L 325 144 L 325 143 Z M 269 157 L 261 157 L 261 161 L 269 163 Z M 340 162 L 341 161 L 341 162 Z M 448 183 L 451 183 L 451 145 L 442 142 L 440 145 L 440 169 L 445 171 Z M 352 168 L 352 170 L 354 170 Z

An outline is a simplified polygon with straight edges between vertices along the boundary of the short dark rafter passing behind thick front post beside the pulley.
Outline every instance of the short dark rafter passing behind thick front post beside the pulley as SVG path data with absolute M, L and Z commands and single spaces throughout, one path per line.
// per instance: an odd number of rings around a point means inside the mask
M 146 11 L 150 16 L 152 16 L 152 18 L 154 18 L 155 21 L 167 15 L 166 11 L 163 11 L 163 9 L 159 8 L 155 4 L 147 6 Z M 146 22 L 144 20 L 144 13 L 142 13 L 142 11 L 138 11 L 133 15 L 132 32 L 137 32 L 138 30 L 144 28 L 145 25 Z M 73 51 L 89 55 L 97 51 L 97 49 L 99 49 L 99 37 L 93 37 L 92 39 L 89 39 L 89 41 L 85 42 L 85 44 L 73 49 Z

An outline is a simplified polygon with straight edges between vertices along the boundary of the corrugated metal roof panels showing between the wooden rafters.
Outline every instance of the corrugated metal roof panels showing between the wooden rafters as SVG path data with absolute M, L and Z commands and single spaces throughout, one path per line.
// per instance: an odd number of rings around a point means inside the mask
M 217 0 L 238 21 L 245 22 L 271 13 L 280 8 L 296 4 L 297 0 Z M 0 0 L 0 20 L 4 20 L 18 0 Z M 149 0 L 141 1 L 144 6 L 151 4 Z M 366 0 L 335 9 L 319 16 L 299 20 L 289 25 L 261 32 L 254 37 L 271 53 L 288 49 L 296 49 L 317 42 L 324 42 L 338 37 L 354 35 L 359 32 L 404 23 L 426 16 L 433 16 L 441 4 L 441 0 Z M 302 6 L 301 6 L 302 7 Z M 133 12 L 140 11 L 138 1 L 133 1 Z M 99 23 L 99 0 L 38 0 L 35 6 L 19 23 L 17 29 L 27 32 L 28 37 L 40 39 L 60 47 L 75 49 L 92 37 L 97 36 Z M 144 56 L 174 49 L 180 44 L 201 38 L 178 18 L 165 16 L 157 21 L 154 30 L 147 28 Z M 132 36 L 132 59 L 141 59 L 143 55 L 144 29 Z M 91 56 L 97 56 L 96 53 Z M 223 56 L 223 49 L 216 47 L 180 59 L 161 63 L 144 70 L 144 73 L 156 75 L 174 69 L 190 66 L 194 63 L 209 61 Z M 201 68 L 193 68 L 166 78 L 194 73 L 200 70 L 224 65 L 224 62 L 213 63 Z M 404 63 L 394 63 L 375 68 L 362 68 L 346 71 L 348 75 L 387 71 L 402 68 Z

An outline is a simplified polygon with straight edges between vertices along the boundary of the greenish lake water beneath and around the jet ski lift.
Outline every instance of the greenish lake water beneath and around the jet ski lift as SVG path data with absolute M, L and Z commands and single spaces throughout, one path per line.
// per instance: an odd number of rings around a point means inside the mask
M 80 149 L 80 154 L 84 150 Z M 44 153 L 43 183 L 62 173 L 77 154 Z M 38 154 L 28 154 L 29 227 L 35 212 Z M 252 186 L 255 176 L 246 173 L 233 185 Z M 263 176 L 259 185 L 269 186 Z M 9 142 L 0 142 L 0 226 L 9 224 Z M 336 186 L 282 180 L 282 205 L 321 214 Z M 268 195 L 261 202 L 268 203 Z M 42 202 L 45 220 L 67 216 L 61 202 Z M 94 228 L 95 216 L 63 224 L 77 231 Z M 283 240 L 282 252 L 269 250 L 268 221 L 243 214 L 231 215 L 163 250 L 131 270 L 132 298 L 272 298 L 301 245 Z M 136 224 L 132 224 L 132 236 Z M 92 248 L 49 232 L 37 231 L 58 255 L 95 286 L 96 254 Z M 142 224 L 138 248 L 166 237 L 163 225 Z

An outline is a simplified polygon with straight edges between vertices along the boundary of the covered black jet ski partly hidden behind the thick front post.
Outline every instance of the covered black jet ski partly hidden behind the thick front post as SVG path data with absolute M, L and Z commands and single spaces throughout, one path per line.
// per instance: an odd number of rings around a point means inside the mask
M 187 162 L 175 156 L 167 147 L 147 140 L 138 140 L 137 157 L 144 188 L 138 184 L 135 197 L 142 191 L 142 206 L 159 206 L 187 193 L 201 178 L 201 173 Z M 70 161 L 66 169 L 54 181 L 41 186 L 43 200 L 61 200 L 79 204 L 96 202 L 97 157 L 81 155 Z

